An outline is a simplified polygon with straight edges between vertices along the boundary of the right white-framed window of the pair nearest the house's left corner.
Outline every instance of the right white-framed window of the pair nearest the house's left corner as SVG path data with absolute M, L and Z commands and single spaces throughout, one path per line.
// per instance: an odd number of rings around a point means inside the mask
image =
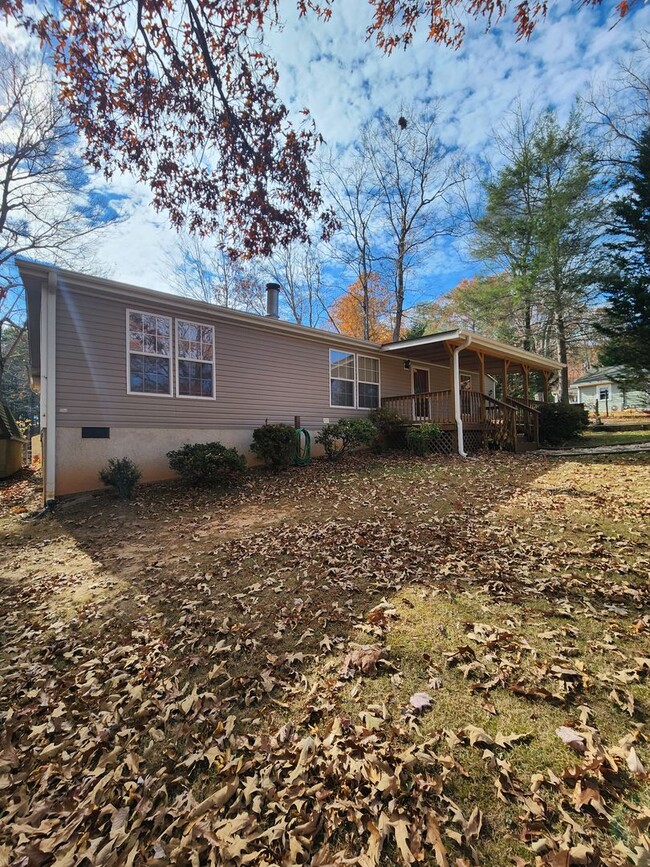
M 214 398 L 214 327 L 176 320 L 176 393 Z

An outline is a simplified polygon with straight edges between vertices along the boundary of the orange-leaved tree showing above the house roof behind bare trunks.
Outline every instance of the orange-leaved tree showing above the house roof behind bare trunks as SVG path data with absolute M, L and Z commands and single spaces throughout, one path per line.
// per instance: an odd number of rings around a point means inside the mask
M 390 289 L 384 286 L 378 274 L 371 272 L 368 278 L 368 340 L 375 343 L 392 340 L 392 299 Z M 360 280 L 355 280 L 347 292 L 334 301 L 330 307 L 330 318 L 341 334 L 363 338 L 364 292 Z

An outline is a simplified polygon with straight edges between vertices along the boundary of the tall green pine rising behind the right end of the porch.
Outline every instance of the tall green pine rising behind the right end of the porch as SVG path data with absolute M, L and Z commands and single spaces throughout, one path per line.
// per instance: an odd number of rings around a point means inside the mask
M 507 162 L 487 184 L 473 252 L 510 273 L 523 348 L 568 365 L 592 322 L 604 219 L 597 161 L 576 114 L 562 125 L 552 112 L 518 109 L 500 141 Z M 568 367 L 560 380 L 568 401 Z

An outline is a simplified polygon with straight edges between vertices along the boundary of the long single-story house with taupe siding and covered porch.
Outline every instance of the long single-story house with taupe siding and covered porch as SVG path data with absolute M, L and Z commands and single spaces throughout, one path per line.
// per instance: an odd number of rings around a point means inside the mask
M 99 487 L 111 457 L 145 481 L 173 476 L 166 453 L 219 440 L 248 453 L 269 422 L 312 434 L 329 421 L 399 410 L 434 421 L 441 448 L 535 444 L 548 358 L 462 330 L 379 345 L 282 321 L 279 287 L 265 316 L 18 263 L 27 299 L 32 387 L 40 393 L 44 497 Z M 494 394 L 500 381 L 500 400 Z

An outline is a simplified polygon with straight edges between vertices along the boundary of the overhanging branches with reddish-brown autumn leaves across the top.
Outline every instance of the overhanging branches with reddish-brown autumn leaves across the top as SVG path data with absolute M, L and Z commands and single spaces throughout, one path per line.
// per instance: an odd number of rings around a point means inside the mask
M 602 0 L 587 0 L 598 6 Z M 111 176 L 131 171 L 176 227 L 224 233 L 233 255 L 268 255 L 307 240 L 318 216 L 325 236 L 335 218 L 323 206 L 309 165 L 320 137 L 307 118 L 296 128 L 276 94 L 277 65 L 263 37 L 280 24 L 278 0 L 61 0 L 5 15 L 39 36 L 52 54 L 61 99 L 86 141 L 86 158 Z M 334 0 L 297 0 L 323 20 Z M 502 0 L 372 0 L 369 38 L 386 52 L 407 47 L 418 25 L 458 47 L 463 19 L 497 21 Z M 580 5 L 584 5 L 581 2 Z M 628 0 L 617 7 L 621 15 Z M 520 38 L 546 2 L 515 7 Z M 304 114 L 308 115 L 305 109 Z

